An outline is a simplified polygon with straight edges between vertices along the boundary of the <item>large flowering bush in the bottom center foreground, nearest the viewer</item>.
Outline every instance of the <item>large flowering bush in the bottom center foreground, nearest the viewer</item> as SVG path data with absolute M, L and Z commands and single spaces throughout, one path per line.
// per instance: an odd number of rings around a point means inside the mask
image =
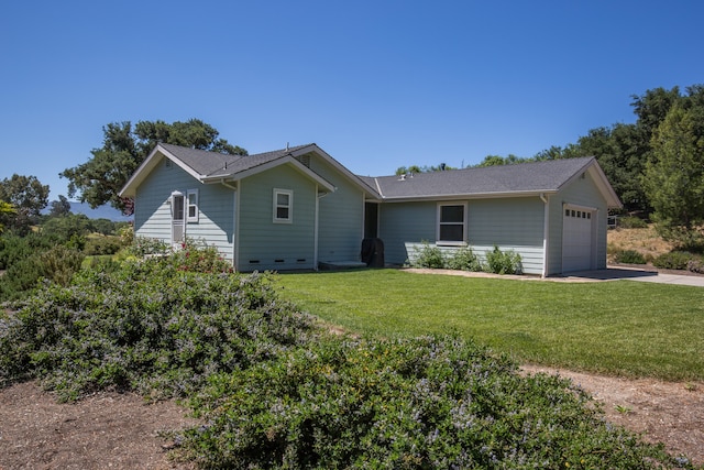
M 321 340 L 213 375 L 191 406 L 207 425 L 176 439 L 202 468 L 691 468 L 455 337 Z

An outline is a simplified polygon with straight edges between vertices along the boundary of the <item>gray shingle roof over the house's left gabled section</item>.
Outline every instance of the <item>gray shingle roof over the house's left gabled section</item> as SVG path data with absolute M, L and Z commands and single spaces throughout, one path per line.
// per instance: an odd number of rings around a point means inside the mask
M 237 173 L 254 168 L 268 162 L 282 159 L 298 149 L 307 145 L 298 145 L 289 149 L 254 155 L 227 155 L 223 153 L 208 152 L 205 150 L 189 149 L 179 145 L 160 144 L 164 150 L 180 160 L 195 173 L 207 177 L 227 177 Z

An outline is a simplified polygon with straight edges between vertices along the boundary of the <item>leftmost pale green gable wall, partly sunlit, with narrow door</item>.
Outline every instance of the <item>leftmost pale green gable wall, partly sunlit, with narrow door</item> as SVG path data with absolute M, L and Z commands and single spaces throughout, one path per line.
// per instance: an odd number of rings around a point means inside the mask
M 186 237 L 217 247 L 223 258 L 232 261 L 232 190 L 221 185 L 202 185 L 177 165 L 167 166 L 166 162 L 164 159 L 138 188 L 134 206 L 135 234 L 170 243 L 170 194 L 174 190 L 186 194 L 189 189 L 197 189 L 199 217 L 197 222 L 186 223 Z

